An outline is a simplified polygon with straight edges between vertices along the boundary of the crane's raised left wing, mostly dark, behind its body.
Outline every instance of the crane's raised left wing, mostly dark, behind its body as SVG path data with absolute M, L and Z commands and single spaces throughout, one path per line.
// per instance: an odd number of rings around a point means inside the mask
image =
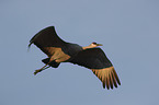
M 30 40 L 29 47 L 35 44 L 42 51 L 44 51 L 48 57 L 50 57 L 58 47 L 66 44 L 57 34 L 54 26 L 46 27 L 38 32 Z

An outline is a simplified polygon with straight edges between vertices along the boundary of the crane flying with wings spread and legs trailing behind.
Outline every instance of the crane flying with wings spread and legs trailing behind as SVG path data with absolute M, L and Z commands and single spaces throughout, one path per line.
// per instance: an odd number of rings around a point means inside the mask
M 34 74 L 46 70 L 49 67 L 58 68 L 61 62 L 70 62 L 90 69 L 102 82 L 103 89 L 110 90 L 121 85 L 118 75 L 104 51 L 99 47 L 102 44 L 91 43 L 89 46 L 81 47 L 61 39 L 55 26 L 48 26 L 35 34 L 29 44 L 36 45 L 47 58 L 41 69 L 35 70 Z

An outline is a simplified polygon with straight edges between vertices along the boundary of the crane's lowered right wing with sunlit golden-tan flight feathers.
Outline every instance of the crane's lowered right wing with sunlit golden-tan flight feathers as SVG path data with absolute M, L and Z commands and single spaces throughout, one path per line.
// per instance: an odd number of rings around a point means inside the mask
M 102 81 L 103 88 L 113 89 L 121 85 L 113 65 L 101 48 L 90 48 L 80 51 L 70 62 L 89 68 Z

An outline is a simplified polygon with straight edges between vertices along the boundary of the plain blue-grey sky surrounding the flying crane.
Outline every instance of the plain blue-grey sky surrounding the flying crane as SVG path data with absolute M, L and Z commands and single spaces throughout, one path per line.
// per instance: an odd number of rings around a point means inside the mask
M 50 25 L 103 44 L 122 85 L 71 63 L 33 75 L 46 55 L 29 42 Z M 159 105 L 159 0 L 0 0 L 0 105 Z

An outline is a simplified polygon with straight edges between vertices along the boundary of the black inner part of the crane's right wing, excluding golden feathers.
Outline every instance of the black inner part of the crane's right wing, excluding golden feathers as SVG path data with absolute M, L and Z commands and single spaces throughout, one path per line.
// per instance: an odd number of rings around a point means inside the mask
M 111 61 L 101 48 L 90 48 L 78 52 L 70 62 L 89 69 L 112 67 Z

